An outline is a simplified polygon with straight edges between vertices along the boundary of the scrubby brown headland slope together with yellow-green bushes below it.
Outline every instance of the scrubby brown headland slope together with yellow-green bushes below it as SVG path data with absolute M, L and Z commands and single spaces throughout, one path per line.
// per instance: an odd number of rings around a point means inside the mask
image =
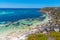
M 45 31 L 48 34 L 32 34 L 28 36 L 28 40 L 60 40 L 60 8 L 59 7 L 46 7 L 41 9 L 42 12 L 48 13 L 51 20 L 45 26 Z

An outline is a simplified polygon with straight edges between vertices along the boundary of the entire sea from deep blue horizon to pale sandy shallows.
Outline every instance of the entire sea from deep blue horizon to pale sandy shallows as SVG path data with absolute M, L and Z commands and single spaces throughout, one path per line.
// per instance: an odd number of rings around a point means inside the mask
M 48 21 L 48 16 L 37 8 L 0 8 L 0 38 L 21 36 Z

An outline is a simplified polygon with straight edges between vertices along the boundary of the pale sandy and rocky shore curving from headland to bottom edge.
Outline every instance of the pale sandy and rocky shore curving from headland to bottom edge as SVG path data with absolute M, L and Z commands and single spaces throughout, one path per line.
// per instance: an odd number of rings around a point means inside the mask
M 58 25 L 56 25 L 56 23 L 54 22 L 55 18 L 53 17 L 53 14 L 51 14 L 52 12 L 46 11 L 46 10 L 40 10 L 42 13 L 45 13 L 48 15 L 48 20 L 45 21 L 43 24 L 38 25 L 37 27 L 33 28 L 32 30 L 30 30 L 29 32 L 25 33 L 24 35 L 22 35 L 21 37 L 14 37 L 16 39 L 14 40 L 27 40 L 28 36 L 31 34 L 36 34 L 36 33 L 42 33 L 42 34 L 47 34 L 50 31 L 55 31 L 55 32 L 59 32 L 60 28 L 56 27 Z M 13 38 L 12 38 L 13 39 Z M 48 37 L 48 40 L 54 40 L 54 38 L 51 38 L 50 36 Z

